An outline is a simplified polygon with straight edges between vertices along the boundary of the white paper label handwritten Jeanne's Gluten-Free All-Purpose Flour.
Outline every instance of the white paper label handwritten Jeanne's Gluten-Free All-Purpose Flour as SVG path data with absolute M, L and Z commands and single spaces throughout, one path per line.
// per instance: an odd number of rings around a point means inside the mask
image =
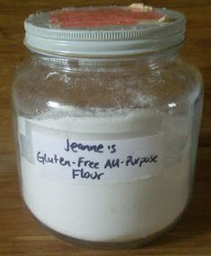
M 31 131 L 28 143 L 32 153 L 26 159 L 32 159 L 39 175 L 62 182 L 101 185 L 161 174 L 163 133 L 93 141 L 77 140 L 65 134 L 55 137 Z

